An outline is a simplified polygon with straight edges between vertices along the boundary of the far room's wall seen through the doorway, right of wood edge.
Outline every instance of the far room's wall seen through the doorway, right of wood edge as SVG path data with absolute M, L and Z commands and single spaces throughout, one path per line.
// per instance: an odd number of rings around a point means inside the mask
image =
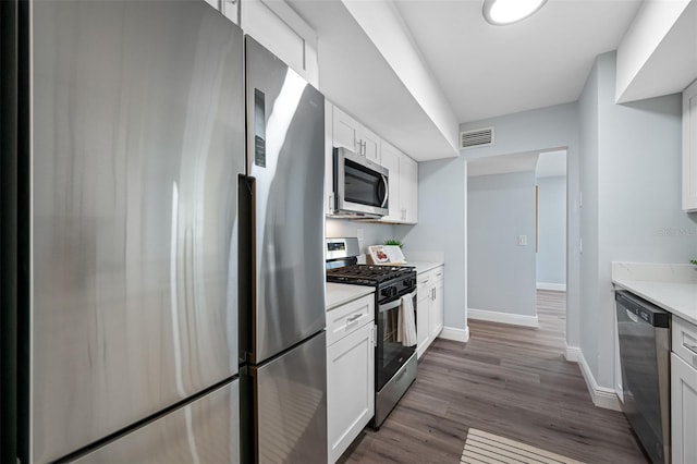
M 537 283 L 566 284 L 566 176 L 537 179 Z

